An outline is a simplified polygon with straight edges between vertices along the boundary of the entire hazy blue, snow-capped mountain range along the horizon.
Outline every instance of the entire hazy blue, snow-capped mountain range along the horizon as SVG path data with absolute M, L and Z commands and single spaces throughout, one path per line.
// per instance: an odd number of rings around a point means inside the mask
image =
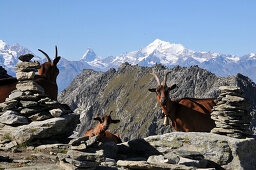
M 15 75 L 13 68 L 18 62 L 17 57 L 25 53 L 32 52 L 18 44 L 7 45 L 0 40 L 0 65 L 7 69 L 10 75 Z M 43 62 L 39 57 L 36 59 Z M 140 66 L 154 66 L 158 63 L 170 68 L 175 65 L 198 65 L 218 76 L 242 73 L 256 82 L 256 54 L 254 53 L 235 56 L 214 52 L 195 52 L 185 48 L 182 44 L 156 39 L 144 48 L 120 56 L 102 58 L 97 56 L 93 49 L 88 48 L 79 61 L 68 61 L 62 58 L 58 64 L 60 69 L 57 80 L 59 91 L 65 89 L 83 69 L 107 71 L 109 68 L 118 68 L 124 62 Z

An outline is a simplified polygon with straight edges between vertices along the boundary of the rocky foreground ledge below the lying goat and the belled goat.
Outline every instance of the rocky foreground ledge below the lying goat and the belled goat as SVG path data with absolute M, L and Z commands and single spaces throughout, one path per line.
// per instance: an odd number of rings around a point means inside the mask
M 127 169 L 255 169 L 256 140 L 212 133 L 172 132 L 129 142 L 100 143 L 97 136 L 78 138 L 60 165 L 79 168 Z M 81 147 L 83 146 L 83 147 Z

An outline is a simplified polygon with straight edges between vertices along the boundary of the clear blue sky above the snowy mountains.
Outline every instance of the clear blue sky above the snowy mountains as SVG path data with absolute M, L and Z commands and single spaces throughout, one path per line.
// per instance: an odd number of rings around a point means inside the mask
M 0 0 L 0 39 L 79 60 L 140 49 L 156 38 L 194 51 L 256 53 L 255 0 Z

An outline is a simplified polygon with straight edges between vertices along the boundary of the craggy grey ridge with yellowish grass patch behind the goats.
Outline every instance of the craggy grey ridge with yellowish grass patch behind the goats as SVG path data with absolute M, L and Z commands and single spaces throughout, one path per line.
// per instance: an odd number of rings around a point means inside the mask
M 118 70 L 104 73 L 84 70 L 58 96 L 60 102 L 80 114 L 82 123 L 77 128 L 78 136 L 94 126 L 92 119 L 96 114 L 110 111 L 121 120 L 110 130 L 118 132 L 123 141 L 171 132 L 170 126 L 163 125 L 155 94 L 148 92 L 157 85 L 150 75 L 153 69 L 160 79 L 165 71 L 171 71 L 167 84 L 178 86 L 171 91 L 171 98 L 217 98 L 220 86 L 238 86 L 244 91 L 243 97 L 251 104 L 251 110 L 256 106 L 256 85 L 241 74 L 217 77 L 197 66 L 168 69 L 162 65 L 140 67 L 124 63 Z M 255 127 L 256 122 L 253 125 Z

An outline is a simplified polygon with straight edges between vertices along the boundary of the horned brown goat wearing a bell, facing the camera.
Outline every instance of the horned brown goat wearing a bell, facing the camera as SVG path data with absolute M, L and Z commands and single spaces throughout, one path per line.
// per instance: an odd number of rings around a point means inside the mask
M 176 85 L 168 87 L 166 85 L 167 72 L 164 75 L 163 85 L 155 73 L 158 87 L 148 89 L 150 92 L 155 92 L 157 100 L 165 115 L 164 124 L 168 124 L 168 117 L 171 119 L 171 125 L 176 131 L 183 132 L 210 132 L 216 125 L 211 119 L 210 113 L 213 106 L 216 105 L 215 99 L 195 99 L 182 98 L 170 99 L 169 93 L 176 88 Z

